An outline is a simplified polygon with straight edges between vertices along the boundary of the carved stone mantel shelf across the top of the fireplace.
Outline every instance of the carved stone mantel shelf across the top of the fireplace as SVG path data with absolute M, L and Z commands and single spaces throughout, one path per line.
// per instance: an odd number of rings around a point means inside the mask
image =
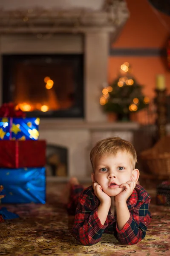
M 9 0 L 6 0 L 8 2 Z M 93 0 L 94 1 L 94 0 Z M 50 1 L 49 1 L 50 2 Z M 56 0 L 56 6 L 61 1 Z M 80 1 L 82 2 L 82 1 Z M 32 7 L 0 9 L 0 33 L 85 33 L 106 31 L 117 35 L 129 12 L 125 0 L 103 0 L 100 9 L 86 8 L 85 3 L 70 9 Z M 82 2 L 83 3 L 83 2 Z M 64 5 L 64 2 L 63 2 Z M 87 5 L 88 6 L 88 5 Z M 1 7 L 1 5 L 0 5 Z

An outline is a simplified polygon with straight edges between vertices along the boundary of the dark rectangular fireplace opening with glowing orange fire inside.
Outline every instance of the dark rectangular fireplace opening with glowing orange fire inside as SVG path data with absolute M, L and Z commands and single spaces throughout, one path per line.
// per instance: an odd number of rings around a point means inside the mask
M 84 117 L 83 54 L 3 55 L 3 103 L 26 116 Z

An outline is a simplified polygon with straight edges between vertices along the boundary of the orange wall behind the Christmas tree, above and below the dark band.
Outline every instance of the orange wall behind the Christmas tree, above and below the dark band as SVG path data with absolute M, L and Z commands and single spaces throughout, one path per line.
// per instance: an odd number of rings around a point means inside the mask
M 170 37 L 170 16 L 158 11 L 169 28 L 161 23 L 153 7 L 147 0 L 127 0 L 130 18 L 121 31 L 113 48 L 163 48 Z M 118 70 L 125 61 L 133 67 L 133 75 L 139 83 L 144 84 L 143 92 L 153 98 L 156 75 L 164 74 L 167 92 L 170 93 L 170 71 L 166 67 L 166 58 L 159 56 L 110 56 L 108 67 L 109 82 L 116 78 Z

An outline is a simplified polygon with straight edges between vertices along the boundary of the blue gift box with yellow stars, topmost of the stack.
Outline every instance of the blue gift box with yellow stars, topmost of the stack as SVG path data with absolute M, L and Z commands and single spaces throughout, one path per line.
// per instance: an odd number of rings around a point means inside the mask
M 40 118 L 0 118 L 0 140 L 38 140 Z

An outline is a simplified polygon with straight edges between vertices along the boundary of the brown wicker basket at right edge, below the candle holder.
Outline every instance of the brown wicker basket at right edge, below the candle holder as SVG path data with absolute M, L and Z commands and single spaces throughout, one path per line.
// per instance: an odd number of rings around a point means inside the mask
M 170 136 L 163 137 L 153 148 L 143 151 L 140 157 L 151 173 L 170 176 Z

